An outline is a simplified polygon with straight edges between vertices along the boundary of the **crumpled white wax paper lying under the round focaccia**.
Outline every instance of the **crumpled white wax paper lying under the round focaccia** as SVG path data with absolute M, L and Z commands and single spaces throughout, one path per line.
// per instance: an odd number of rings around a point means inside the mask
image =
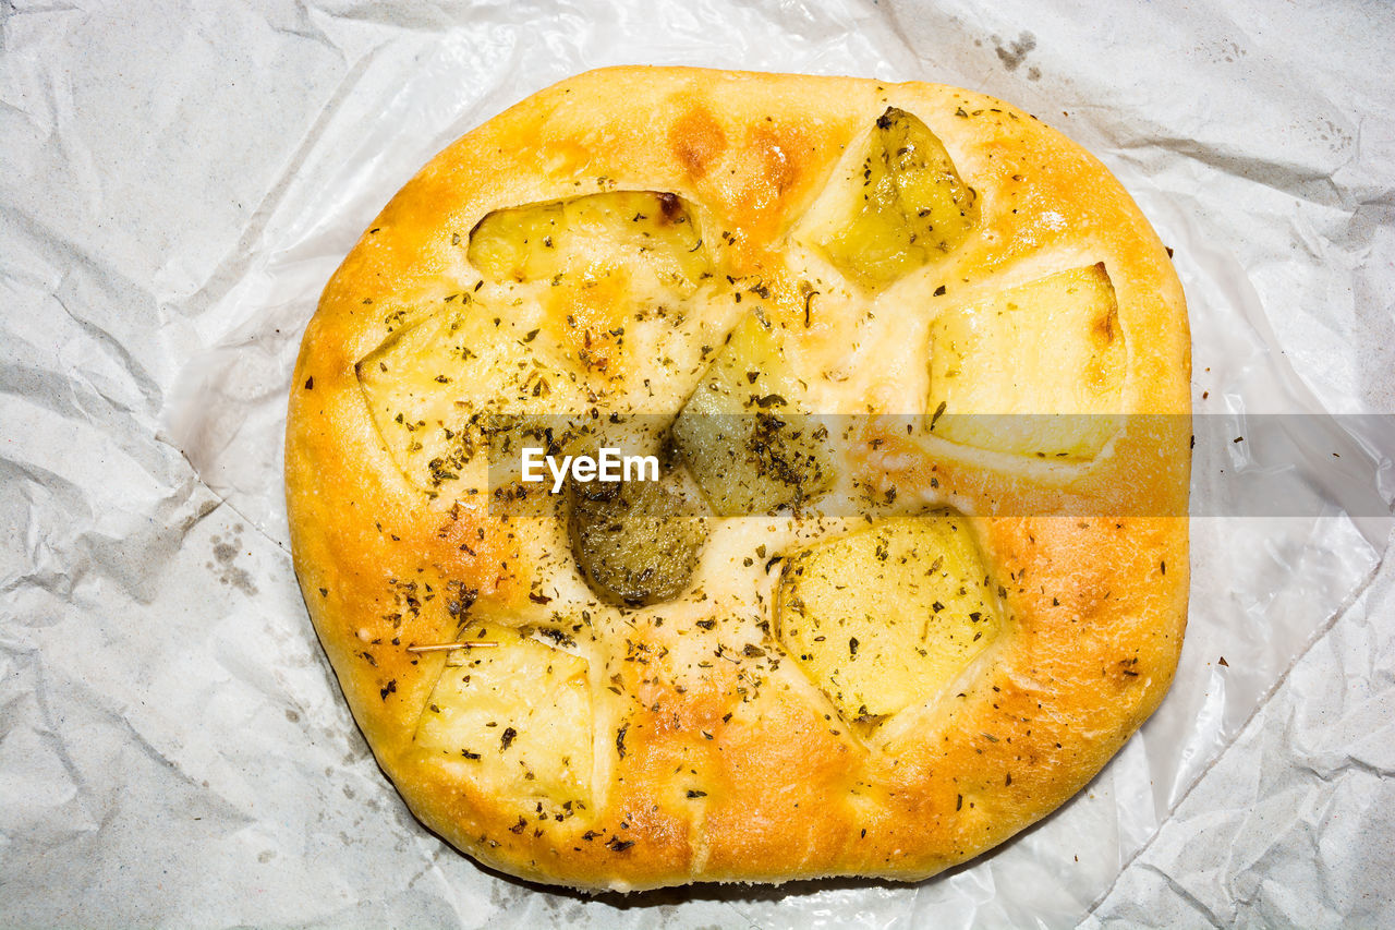
M 1018 103 L 1176 249 L 1198 413 L 1389 413 L 1388 4 L 8 0 L 0 24 L 0 923 L 1395 922 L 1381 514 L 1194 519 L 1162 709 L 995 853 L 593 899 L 412 818 L 315 642 L 280 485 L 301 330 L 357 235 L 456 135 L 618 63 Z M 1388 501 L 1389 430 L 1356 440 L 1374 465 L 1313 450 L 1304 480 Z M 1253 465 L 1204 452 L 1200 500 Z

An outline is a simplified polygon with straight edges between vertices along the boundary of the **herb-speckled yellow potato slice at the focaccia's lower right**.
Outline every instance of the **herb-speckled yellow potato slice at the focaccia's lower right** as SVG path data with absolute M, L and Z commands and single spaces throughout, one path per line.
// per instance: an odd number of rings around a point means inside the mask
M 944 690 L 1002 627 L 963 517 L 904 517 L 808 549 L 784 568 L 776 635 L 851 721 Z

